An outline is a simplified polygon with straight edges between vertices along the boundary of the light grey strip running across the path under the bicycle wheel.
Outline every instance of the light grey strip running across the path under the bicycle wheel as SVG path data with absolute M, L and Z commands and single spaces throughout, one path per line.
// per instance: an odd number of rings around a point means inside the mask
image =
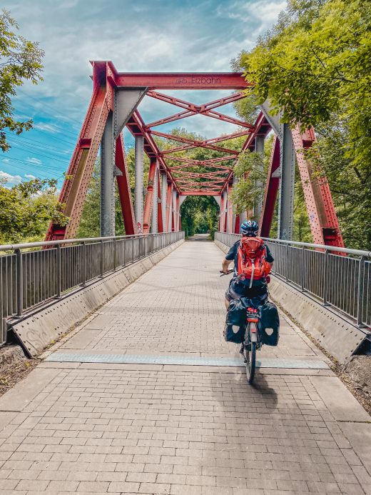
M 183 366 L 245 366 L 243 359 L 200 356 L 163 356 L 148 354 L 88 354 L 54 352 L 46 361 L 109 364 L 178 364 Z M 258 368 L 328 369 L 319 359 L 257 359 Z

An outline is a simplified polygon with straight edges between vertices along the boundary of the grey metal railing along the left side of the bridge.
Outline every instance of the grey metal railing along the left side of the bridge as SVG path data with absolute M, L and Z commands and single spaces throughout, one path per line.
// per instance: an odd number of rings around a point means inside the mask
M 6 319 L 184 239 L 184 232 L 0 246 L 0 344 Z M 35 249 L 24 251 L 24 249 Z M 48 249 L 45 249 L 48 248 Z

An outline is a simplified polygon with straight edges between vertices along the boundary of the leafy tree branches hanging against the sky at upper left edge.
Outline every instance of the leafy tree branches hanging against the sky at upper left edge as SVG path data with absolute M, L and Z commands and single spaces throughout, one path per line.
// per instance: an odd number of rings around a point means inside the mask
M 42 81 L 41 59 L 44 51 L 38 43 L 27 41 L 16 31 L 19 26 L 5 9 L 0 14 L 0 149 L 8 151 L 6 130 L 21 134 L 32 127 L 32 120 L 14 119 L 11 98 L 16 88 L 29 80 L 33 84 Z

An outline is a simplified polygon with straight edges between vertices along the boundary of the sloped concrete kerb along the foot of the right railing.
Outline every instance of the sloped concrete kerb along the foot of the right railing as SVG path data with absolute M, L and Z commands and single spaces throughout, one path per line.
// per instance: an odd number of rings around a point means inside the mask
M 220 241 L 215 241 L 215 244 L 223 252 L 228 252 L 229 248 L 225 244 Z M 271 299 L 278 302 L 291 318 L 303 326 L 340 363 L 350 359 L 365 341 L 365 333 L 357 326 L 276 276 L 271 279 L 269 292 Z

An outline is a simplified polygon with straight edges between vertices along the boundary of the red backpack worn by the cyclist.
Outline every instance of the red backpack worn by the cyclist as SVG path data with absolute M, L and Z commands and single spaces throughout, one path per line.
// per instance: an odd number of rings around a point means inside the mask
M 267 251 L 260 237 L 243 237 L 238 247 L 238 277 L 240 280 L 265 279 L 270 273 L 270 264 L 265 261 Z

